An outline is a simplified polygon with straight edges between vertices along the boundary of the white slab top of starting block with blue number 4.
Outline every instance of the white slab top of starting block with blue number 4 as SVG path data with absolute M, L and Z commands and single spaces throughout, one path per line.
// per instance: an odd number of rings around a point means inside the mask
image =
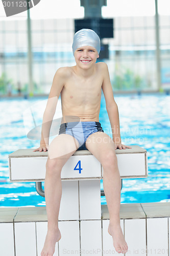
M 137 145 L 115 150 L 121 178 L 147 178 L 147 151 Z M 45 180 L 47 152 L 33 152 L 33 148 L 17 150 L 9 155 L 10 182 Z M 81 173 L 81 167 L 82 173 Z M 76 172 L 75 172 L 76 170 Z M 101 163 L 88 151 L 76 151 L 65 163 L 61 180 L 103 179 Z

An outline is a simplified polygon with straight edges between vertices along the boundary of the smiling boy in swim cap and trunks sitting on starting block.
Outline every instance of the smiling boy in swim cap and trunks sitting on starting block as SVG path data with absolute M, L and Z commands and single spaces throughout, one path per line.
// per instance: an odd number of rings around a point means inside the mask
M 61 200 L 61 170 L 77 150 L 89 150 L 104 169 L 103 185 L 109 210 L 109 234 L 117 252 L 128 250 L 120 227 L 120 175 L 115 149 L 131 148 L 120 139 L 117 104 L 114 101 L 106 63 L 96 59 L 100 53 L 100 38 L 90 29 L 79 30 L 72 44 L 76 66 L 57 70 L 43 115 L 40 147 L 47 151 L 45 202 L 48 230 L 41 256 L 52 256 L 55 244 L 61 239 L 58 215 Z M 101 92 L 103 90 L 113 139 L 102 130 L 99 122 Z M 48 145 L 51 123 L 61 93 L 62 121 L 59 135 Z

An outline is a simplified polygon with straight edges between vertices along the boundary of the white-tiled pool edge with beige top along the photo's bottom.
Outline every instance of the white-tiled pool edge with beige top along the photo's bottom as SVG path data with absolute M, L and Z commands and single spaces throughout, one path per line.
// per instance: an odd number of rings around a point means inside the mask
M 117 254 L 107 232 L 107 205 L 101 207 L 101 219 L 59 219 L 62 238 L 54 255 Z M 121 204 L 120 222 L 129 246 L 126 255 L 169 256 L 169 218 L 170 202 Z M 0 208 L 1 255 L 40 256 L 46 230 L 45 207 Z

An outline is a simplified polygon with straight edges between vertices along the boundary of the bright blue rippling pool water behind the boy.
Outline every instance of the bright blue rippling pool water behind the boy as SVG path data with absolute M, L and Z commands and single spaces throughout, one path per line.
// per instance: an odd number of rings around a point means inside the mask
M 126 145 L 139 145 L 148 152 L 148 178 L 124 179 L 121 202 L 170 201 L 170 96 L 116 95 L 114 98 L 119 110 L 122 142 Z M 19 148 L 39 146 L 39 140 L 27 138 L 27 124 L 23 122 L 23 116 L 27 108 L 34 106 L 34 114 L 38 113 L 36 122 L 37 125 L 40 124 L 45 108 L 44 100 L 45 98 L 0 99 L 0 206 L 45 205 L 44 198 L 36 192 L 34 182 L 10 183 L 8 169 L 10 153 Z M 103 130 L 112 137 L 103 95 L 100 122 Z M 101 201 L 106 204 L 105 197 Z

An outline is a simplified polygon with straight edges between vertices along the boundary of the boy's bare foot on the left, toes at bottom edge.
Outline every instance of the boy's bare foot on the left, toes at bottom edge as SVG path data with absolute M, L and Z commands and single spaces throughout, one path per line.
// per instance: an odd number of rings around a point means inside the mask
M 61 239 L 60 230 L 47 231 L 44 247 L 41 251 L 41 256 L 53 256 L 56 243 Z

